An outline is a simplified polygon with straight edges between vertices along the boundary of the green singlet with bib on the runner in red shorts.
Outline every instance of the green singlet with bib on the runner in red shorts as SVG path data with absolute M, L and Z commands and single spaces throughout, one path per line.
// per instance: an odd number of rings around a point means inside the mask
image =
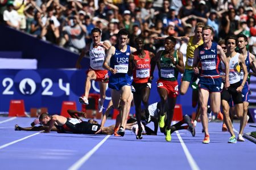
M 175 65 L 172 63 L 171 58 L 164 57 L 164 54 L 163 51 L 160 56 L 159 79 L 175 82 L 177 80 L 177 75 L 179 74 L 179 71 L 175 67 L 178 63 L 177 50 L 174 50 Z

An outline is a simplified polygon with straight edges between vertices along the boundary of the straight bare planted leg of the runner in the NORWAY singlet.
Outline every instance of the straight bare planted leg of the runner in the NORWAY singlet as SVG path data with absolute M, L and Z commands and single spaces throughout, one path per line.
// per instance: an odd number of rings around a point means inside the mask
M 209 98 L 209 91 L 200 89 L 199 90 L 199 103 L 201 106 L 201 122 L 204 128 L 204 133 L 205 135 L 209 135 L 208 132 L 208 117 L 207 117 L 207 103 L 208 103 L 208 98 Z

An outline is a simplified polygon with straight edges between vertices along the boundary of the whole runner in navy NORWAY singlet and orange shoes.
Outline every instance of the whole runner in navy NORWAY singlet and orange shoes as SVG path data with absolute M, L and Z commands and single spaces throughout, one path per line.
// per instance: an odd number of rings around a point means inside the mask
M 220 111 L 220 92 L 221 83 L 220 71 L 218 65 L 220 59 L 226 66 L 226 84 L 225 88 L 229 87 L 229 63 L 220 45 L 212 42 L 213 28 L 205 26 L 203 28 L 204 44 L 200 45 L 194 52 L 193 71 L 199 74 L 198 63 L 201 61 L 201 74 L 199 81 L 199 102 L 201 107 L 201 122 L 205 131 L 205 138 L 203 143 L 209 143 L 210 137 L 208 133 L 208 117 L 207 117 L 207 103 L 210 96 L 210 108 L 212 112 L 217 114 Z

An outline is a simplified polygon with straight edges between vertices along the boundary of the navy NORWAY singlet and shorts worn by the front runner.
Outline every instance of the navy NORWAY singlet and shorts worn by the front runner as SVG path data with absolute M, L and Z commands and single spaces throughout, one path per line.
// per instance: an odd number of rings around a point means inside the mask
M 199 88 L 208 90 L 209 92 L 221 91 L 221 78 L 218 67 L 220 65 L 220 57 L 217 52 L 217 43 L 212 42 L 210 49 L 204 49 L 203 45 L 199 47 L 199 58 L 201 61 L 201 75 Z

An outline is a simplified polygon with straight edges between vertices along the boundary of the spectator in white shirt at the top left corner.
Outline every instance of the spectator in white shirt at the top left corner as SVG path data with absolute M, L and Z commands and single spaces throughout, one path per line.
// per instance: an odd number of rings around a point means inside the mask
M 18 12 L 14 10 L 13 1 L 7 2 L 7 10 L 3 12 L 3 20 L 6 25 L 15 29 L 20 29 L 20 17 Z

